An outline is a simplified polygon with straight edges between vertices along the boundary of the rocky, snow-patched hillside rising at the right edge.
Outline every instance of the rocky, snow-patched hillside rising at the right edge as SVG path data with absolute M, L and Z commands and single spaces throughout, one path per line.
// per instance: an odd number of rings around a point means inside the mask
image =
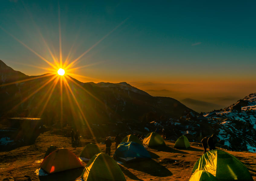
M 256 152 L 256 93 L 246 96 L 225 109 L 208 113 L 188 113 L 180 119 L 155 121 L 154 125 L 173 130 L 171 140 L 181 133 L 190 141 L 200 141 L 213 133 L 219 137 L 218 145 L 233 151 Z

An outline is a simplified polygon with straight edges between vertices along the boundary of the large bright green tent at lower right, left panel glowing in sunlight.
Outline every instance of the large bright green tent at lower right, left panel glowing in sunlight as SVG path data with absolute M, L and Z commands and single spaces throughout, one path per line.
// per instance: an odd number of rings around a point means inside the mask
M 193 167 L 192 173 L 205 170 L 218 180 L 253 181 L 248 169 L 233 155 L 222 150 L 211 150 L 203 154 Z

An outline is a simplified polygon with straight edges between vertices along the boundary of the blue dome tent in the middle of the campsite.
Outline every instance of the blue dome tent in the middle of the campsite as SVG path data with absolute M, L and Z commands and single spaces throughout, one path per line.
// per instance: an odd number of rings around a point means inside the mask
M 141 144 L 124 142 L 118 145 L 114 158 L 116 160 L 128 162 L 131 160 L 151 158 L 151 156 Z

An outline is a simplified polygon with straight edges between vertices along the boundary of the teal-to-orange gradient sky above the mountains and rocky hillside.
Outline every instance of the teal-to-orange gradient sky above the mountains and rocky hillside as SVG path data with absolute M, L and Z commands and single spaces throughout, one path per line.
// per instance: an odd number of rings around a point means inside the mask
M 255 5 L 2 0 L 0 59 L 42 75 L 35 66 L 50 65 L 27 47 L 53 63 L 47 46 L 59 60 L 61 45 L 63 60 L 84 54 L 73 65 L 88 65 L 73 71 L 79 81 L 128 82 L 154 96 L 226 107 L 256 92 Z

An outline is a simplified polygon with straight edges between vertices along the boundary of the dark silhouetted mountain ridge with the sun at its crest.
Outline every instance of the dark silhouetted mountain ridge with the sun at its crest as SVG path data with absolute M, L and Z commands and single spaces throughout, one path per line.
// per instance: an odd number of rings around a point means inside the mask
M 147 116 L 149 113 L 154 113 L 156 119 L 161 116 L 169 119 L 179 118 L 185 111 L 194 112 L 175 99 L 153 97 L 126 82 L 82 83 L 66 76 L 68 86 L 63 82 L 61 98 L 61 84 L 60 81 L 57 84 L 54 83 L 55 75 L 26 76 L 9 68 L 3 62 L 2 64 L 1 75 L 5 77 L 5 81 L 0 82 L 2 118 L 39 117 L 43 118 L 47 124 L 68 122 L 79 127 L 86 125 L 86 121 L 89 124 L 118 121 L 138 123 L 150 121 L 152 118 Z M 14 80 L 14 77 L 15 80 L 28 79 L 28 81 L 4 85 Z M 83 117 L 86 121 L 83 121 Z

